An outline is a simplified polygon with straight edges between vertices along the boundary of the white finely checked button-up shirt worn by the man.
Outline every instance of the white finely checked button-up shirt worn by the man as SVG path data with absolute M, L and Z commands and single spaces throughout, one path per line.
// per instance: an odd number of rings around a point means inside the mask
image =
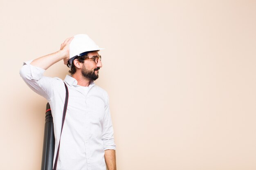
M 31 60 L 32 61 L 32 60 Z M 61 135 L 65 86 L 58 77 L 43 76 L 45 70 L 25 62 L 20 76 L 36 93 L 45 97 L 52 110 L 55 152 Z M 92 82 L 79 86 L 67 75 L 69 91 L 67 113 L 61 135 L 57 170 L 106 170 L 104 150 L 115 150 L 108 94 Z

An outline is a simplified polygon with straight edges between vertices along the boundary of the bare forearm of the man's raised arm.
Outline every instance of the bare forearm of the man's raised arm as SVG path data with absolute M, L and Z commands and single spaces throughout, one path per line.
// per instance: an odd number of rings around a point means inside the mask
M 63 60 L 67 55 L 68 54 L 66 50 L 60 50 L 55 53 L 45 55 L 43 57 L 39 57 L 33 60 L 30 64 L 46 70 L 56 62 Z

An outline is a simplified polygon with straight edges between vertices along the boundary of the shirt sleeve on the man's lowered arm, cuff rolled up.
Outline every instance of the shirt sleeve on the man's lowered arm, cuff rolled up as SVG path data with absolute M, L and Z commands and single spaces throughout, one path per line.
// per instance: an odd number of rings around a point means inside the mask
M 107 95 L 107 104 L 105 106 L 105 116 L 103 121 L 102 141 L 103 141 L 104 150 L 108 150 L 108 149 L 116 150 L 108 95 Z

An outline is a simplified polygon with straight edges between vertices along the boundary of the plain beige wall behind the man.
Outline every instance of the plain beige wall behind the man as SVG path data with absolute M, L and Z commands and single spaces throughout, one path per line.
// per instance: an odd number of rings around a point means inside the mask
M 46 100 L 22 62 L 78 33 L 106 48 L 118 170 L 256 169 L 255 0 L 1 0 L 0 24 L 1 170 L 41 166 Z

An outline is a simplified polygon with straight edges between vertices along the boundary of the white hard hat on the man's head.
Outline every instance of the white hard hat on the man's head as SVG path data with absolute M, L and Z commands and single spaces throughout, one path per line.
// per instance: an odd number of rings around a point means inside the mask
M 74 57 L 79 56 L 81 53 L 98 50 L 103 50 L 103 48 L 99 48 L 99 46 L 97 46 L 88 35 L 75 35 L 73 40 L 70 42 L 70 60 L 68 60 L 68 66 L 71 67 Z

